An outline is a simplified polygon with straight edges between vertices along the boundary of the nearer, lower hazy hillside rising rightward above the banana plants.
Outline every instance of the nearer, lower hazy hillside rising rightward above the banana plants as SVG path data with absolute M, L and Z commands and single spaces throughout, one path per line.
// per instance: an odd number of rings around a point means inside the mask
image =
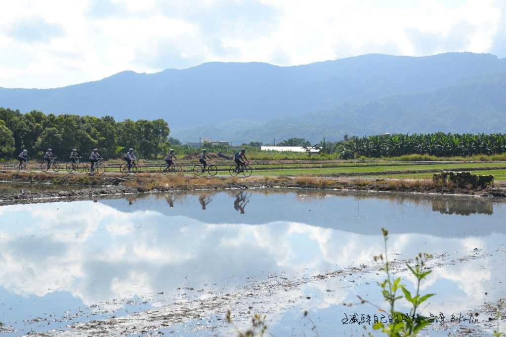
M 263 141 L 273 137 L 304 137 L 313 143 L 348 135 L 389 133 L 495 133 L 506 132 L 506 73 L 461 81 L 456 85 L 418 94 L 396 95 L 363 103 L 342 103 L 327 111 L 296 118 L 208 131 L 186 130 L 190 136 L 216 133 L 225 139 Z

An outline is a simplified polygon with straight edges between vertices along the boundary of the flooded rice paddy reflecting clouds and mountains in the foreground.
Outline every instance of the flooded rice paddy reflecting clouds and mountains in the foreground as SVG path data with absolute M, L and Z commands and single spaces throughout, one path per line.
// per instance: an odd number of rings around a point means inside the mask
M 275 336 L 362 335 L 381 313 L 357 295 L 387 307 L 382 227 L 409 288 L 405 261 L 434 254 L 423 334 L 491 335 L 505 218 L 490 199 L 299 189 L 2 206 L 0 336 L 232 336 L 227 310 Z

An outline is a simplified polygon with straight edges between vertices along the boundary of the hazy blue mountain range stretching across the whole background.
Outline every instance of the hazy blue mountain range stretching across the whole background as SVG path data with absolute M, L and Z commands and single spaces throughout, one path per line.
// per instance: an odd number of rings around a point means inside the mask
M 61 88 L 0 88 L 0 106 L 163 118 L 183 141 L 316 142 L 344 134 L 506 132 L 505 84 L 506 59 L 490 54 L 370 54 L 290 67 L 211 62 Z

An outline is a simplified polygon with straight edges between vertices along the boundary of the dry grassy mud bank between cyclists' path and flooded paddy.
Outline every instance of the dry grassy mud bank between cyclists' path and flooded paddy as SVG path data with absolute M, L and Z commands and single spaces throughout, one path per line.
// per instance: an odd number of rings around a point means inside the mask
M 4 192 L 0 205 L 51 199 L 107 197 L 158 191 L 192 191 L 224 188 L 314 188 L 357 191 L 390 191 L 442 195 L 469 195 L 505 198 L 506 189 L 494 185 L 486 188 L 459 188 L 451 184 L 438 184 L 430 180 L 414 179 L 363 179 L 324 177 L 193 177 L 183 175 L 159 176 L 139 174 L 132 176 L 45 173 L 0 173 L 0 180 L 11 182 L 48 183 L 60 185 L 37 192 Z M 90 186 L 69 190 L 70 185 Z

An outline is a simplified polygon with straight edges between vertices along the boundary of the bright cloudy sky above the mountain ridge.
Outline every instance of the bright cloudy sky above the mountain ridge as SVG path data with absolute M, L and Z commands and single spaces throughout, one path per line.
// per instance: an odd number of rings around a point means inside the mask
M 0 0 L 0 87 L 445 52 L 505 58 L 506 0 Z

